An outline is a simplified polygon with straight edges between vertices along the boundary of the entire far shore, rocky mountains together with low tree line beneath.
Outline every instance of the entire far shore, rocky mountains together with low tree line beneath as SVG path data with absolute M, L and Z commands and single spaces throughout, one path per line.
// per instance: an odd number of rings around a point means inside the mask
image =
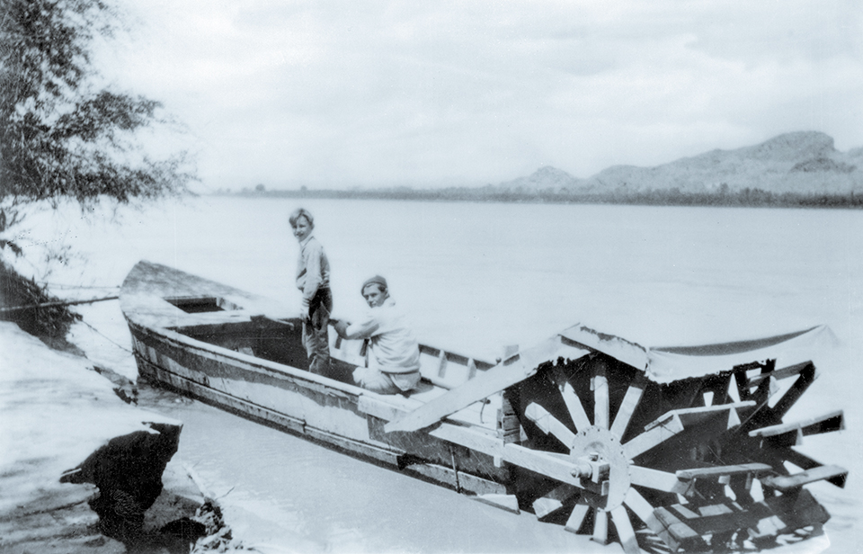
M 230 191 L 217 193 L 227 193 Z M 316 189 L 241 196 L 413 201 L 602 202 L 655 205 L 784 206 L 863 209 L 863 147 L 840 152 L 816 131 L 779 135 L 753 147 L 711 150 L 654 167 L 613 165 L 579 179 L 556 167 L 480 187 Z

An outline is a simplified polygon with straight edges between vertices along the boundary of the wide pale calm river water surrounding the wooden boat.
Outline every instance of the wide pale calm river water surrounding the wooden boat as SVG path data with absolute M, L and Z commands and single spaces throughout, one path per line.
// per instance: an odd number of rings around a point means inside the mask
M 87 223 L 74 209 L 37 214 L 19 242 L 30 253 L 66 243 L 85 255 L 48 278 L 67 296 L 110 294 L 147 259 L 296 306 L 287 216 L 300 204 L 315 214 L 333 268 L 335 316 L 359 313 L 360 282 L 380 273 L 423 342 L 479 358 L 578 322 L 656 346 L 831 326 L 839 344 L 795 414 L 845 410 L 848 430 L 807 437 L 806 449 L 851 470 L 844 490 L 811 489 L 833 515 L 830 550 L 857 551 L 863 211 L 202 197 L 120 210 L 118 223 L 107 214 Z M 79 311 L 76 341 L 134 378 L 118 303 Z M 262 550 L 617 548 L 197 402 L 147 398 L 184 422 L 177 455 Z

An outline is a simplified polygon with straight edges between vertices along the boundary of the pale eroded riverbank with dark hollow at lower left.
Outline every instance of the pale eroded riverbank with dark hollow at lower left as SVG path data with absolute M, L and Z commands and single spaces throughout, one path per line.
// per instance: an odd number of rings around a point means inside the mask
M 10 322 L 0 322 L 0 352 L 0 550 L 244 550 L 193 471 L 173 460 L 173 451 L 159 451 L 176 450 L 170 434 L 179 434 L 182 422 L 137 407 L 134 383 L 95 368 L 80 353 L 51 349 Z M 146 469 L 129 475 L 122 465 L 125 445 L 140 450 L 144 444 L 156 444 L 144 456 L 160 475 L 147 476 Z M 111 466 L 123 473 L 113 478 L 116 487 L 105 484 Z M 131 481 L 156 488 L 139 528 L 129 523 L 143 507 Z M 94 511 L 106 505 L 119 514 L 112 523 Z

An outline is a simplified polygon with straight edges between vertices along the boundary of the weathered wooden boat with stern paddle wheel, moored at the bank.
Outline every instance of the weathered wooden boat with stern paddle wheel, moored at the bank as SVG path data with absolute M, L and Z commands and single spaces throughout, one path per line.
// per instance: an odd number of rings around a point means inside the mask
M 847 476 L 794 448 L 841 410 L 783 422 L 823 326 L 645 348 L 576 325 L 494 361 L 423 344 L 403 396 L 353 386 L 364 346 L 335 333 L 331 373 L 306 371 L 271 299 L 141 262 L 120 300 L 147 380 L 626 552 L 799 540 L 829 518 L 805 485 Z

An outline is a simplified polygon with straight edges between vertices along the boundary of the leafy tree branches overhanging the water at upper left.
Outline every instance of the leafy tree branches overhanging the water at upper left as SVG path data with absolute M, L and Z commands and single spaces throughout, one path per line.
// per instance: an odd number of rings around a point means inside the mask
M 111 36 L 117 26 L 109 4 L 0 0 L 0 17 L 0 233 L 20 223 L 22 203 L 186 191 L 194 179 L 186 153 L 152 159 L 136 136 L 170 123 L 162 104 L 93 90 L 93 33 Z

